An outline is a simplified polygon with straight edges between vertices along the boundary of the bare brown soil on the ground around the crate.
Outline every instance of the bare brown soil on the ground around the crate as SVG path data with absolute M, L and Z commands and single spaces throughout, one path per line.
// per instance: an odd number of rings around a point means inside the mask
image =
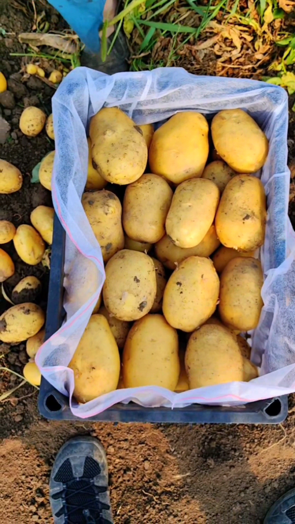
M 64 26 L 54 9 L 40 0 L 37 13 L 44 8 L 50 29 Z M 2 3 L 0 11 L 0 28 L 6 31 L 4 35 L 0 31 L 1 69 L 13 94 L 4 101 L 0 97 L 0 116 L 10 126 L 1 158 L 11 161 L 24 176 L 18 193 L 0 195 L 0 219 L 15 226 L 29 224 L 30 212 L 37 205 L 51 205 L 50 193 L 40 184 L 31 184 L 30 175 L 54 144 L 45 132 L 34 139 L 25 137 L 18 122 L 27 105 L 38 105 L 49 114 L 54 91 L 34 77 L 23 81 L 22 59 L 9 54 L 23 52 L 17 35 L 31 29 L 30 9 L 29 3 L 10 0 Z M 293 103 L 290 97 L 290 107 Z M 290 112 L 290 167 L 295 158 L 294 115 Z M 293 201 L 290 218 L 295 224 Z M 5 282 L 7 294 L 20 278 L 35 275 L 42 283 L 39 303 L 45 308 L 48 269 L 41 264 L 26 266 L 11 245 L 4 248 L 16 266 L 15 275 Z M 0 313 L 6 308 L 1 298 Z M 27 362 L 24 344 L 1 344 L 0 356 L 0 365 L 17 373 Z M 5 373 L 0 394 L 18 381 Z M 295 484 L 295 396 L 289 403 L 287 421 L 275 427 L 52 422 L 38 414 L 37 391 L 24 386 L 0 402 L 0 520 L 6 524 L 53 522 L 48 483 L 54 456 L 71 436 L 91 434 L 107 452 L 116 524 L 263 522 L 271 504 Z

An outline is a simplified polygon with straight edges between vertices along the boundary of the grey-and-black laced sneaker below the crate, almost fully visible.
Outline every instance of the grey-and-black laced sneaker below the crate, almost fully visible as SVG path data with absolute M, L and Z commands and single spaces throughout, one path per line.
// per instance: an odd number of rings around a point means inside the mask
M 49 488 L 54 524 L 113 524 L 106 454 L 92 436 L 61 447 Z

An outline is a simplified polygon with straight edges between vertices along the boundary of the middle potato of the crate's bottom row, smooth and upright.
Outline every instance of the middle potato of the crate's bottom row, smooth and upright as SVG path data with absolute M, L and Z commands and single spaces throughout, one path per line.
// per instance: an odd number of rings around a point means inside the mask
M 180 364 L 178 335 L 162 315 L 145 315 L 130 329 L 123 351 L 126 388 L 160 386 L 174 389 Z

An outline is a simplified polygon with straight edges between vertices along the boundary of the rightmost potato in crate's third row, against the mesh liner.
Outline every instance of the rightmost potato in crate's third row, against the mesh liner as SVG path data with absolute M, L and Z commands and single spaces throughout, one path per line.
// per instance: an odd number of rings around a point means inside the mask
M 263 307 L 261 287 L 263 272 L 256 258 L 234 258 L 221 274 L 221 320 L 232 329 L 249 331 L 257 328 Z

